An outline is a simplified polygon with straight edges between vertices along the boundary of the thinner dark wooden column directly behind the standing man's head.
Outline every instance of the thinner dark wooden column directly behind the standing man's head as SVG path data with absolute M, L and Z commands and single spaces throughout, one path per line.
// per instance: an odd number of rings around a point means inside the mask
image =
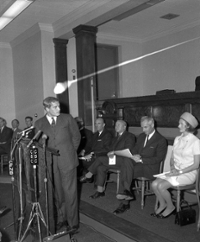
M 67 44 L 68 40 L 53 39 L 55 46 L 55 66 L 56 66 L 56 83 L 68 82 L 67 75 Z M 69 93 L 68 89 L 65 92 L 57 95 L 62 113 L 69 113 Z

